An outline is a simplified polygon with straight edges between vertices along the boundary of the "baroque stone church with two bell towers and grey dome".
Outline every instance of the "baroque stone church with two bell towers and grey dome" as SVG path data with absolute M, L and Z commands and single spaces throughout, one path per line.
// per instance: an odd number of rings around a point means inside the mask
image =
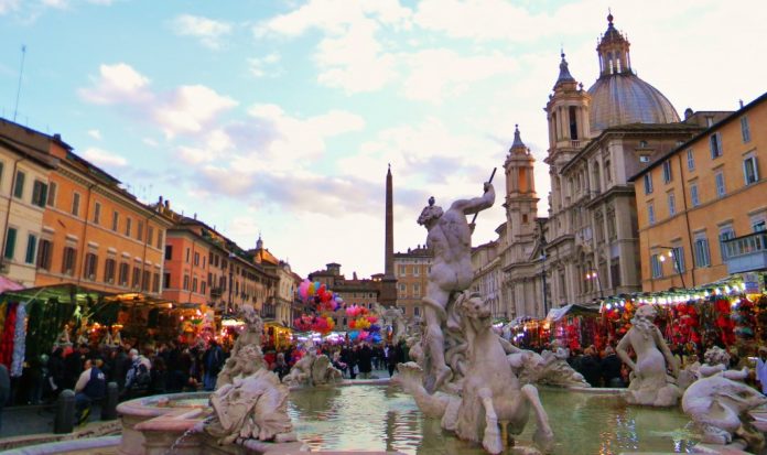
M 628 178 L 706 127 L 680 119 L 671 102 L 631 67 L 629 42 L 607 17 L 597 45 L 599 77 L 584 89 L 562 53 L 545 105 L 551 193 L 538 217 L 534 158 L 519 129 L 504 163 L 506 223 L 496 229 L 506 316 L 641 291 L 637 208 Z

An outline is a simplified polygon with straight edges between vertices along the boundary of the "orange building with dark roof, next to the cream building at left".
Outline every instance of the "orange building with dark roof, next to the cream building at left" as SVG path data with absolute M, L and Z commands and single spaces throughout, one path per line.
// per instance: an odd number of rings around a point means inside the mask
M 161 294 L 165 229 L 171 220 L 77 156 L 72 147 L 20 124 L 2 136 L 58 160 L 47 178 L 35 285 L 75 283 L 125 293 Z M 42 189 L 41 189 L 42 192 Z

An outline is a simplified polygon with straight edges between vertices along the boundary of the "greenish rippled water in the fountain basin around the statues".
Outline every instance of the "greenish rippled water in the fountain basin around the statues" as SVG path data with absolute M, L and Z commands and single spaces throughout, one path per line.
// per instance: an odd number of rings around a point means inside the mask
M 615 396 L 542 389 L 555 436 L 555 455 L 622 452 L 690 452 L 696 436 L 678 409 L 629 408 Z M 443 432 L 413 399 L 395 387 L 350 386 L 292 391 L 289 413 L 299 438 L 312 449 L 399 451 L 406 454 L 484 454 Z M 531 415 L 519 441 L 534 432 Z

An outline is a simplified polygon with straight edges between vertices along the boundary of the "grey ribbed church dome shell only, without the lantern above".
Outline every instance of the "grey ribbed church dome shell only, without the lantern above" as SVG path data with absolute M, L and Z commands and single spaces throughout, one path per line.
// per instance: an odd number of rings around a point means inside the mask
M 657 88 L 631 73 L 599 77 L 588 89 L 592 131 L 627 123 L 672 123 L 677 110 Z

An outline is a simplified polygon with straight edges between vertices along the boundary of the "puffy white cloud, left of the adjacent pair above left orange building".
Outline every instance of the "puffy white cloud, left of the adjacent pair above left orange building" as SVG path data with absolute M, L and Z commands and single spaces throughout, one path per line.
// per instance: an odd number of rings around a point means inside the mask
M 100 65 L 99 76 L 91 80 L 94 87 L 79 89 L 79 95 L 97 105 L 141 104 L 152 98 L 149 78 L 126 63 Z

